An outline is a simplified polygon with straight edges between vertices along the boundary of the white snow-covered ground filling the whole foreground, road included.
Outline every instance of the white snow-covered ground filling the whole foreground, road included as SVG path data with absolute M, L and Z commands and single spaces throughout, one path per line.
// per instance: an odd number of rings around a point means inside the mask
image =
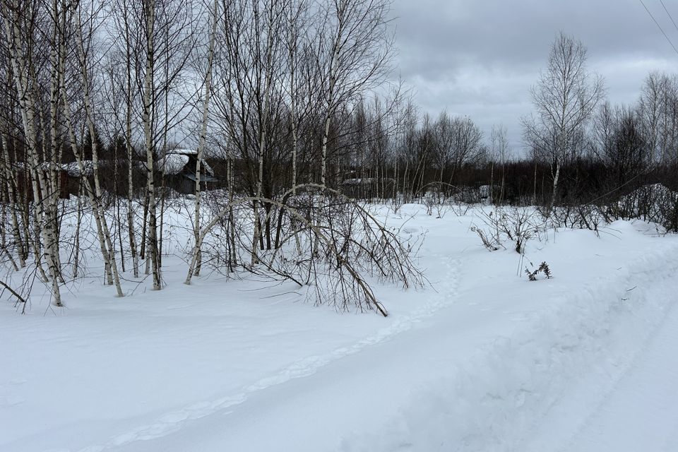
M 385 214 L 387 210 L 382 210 Z M 477 210 L 405 206 L 430 287 L 390 312 L 294 285 L 89 276 L 0 304 L 0 451 L 676 451 L 678 237 L 615 222 L 490 253 Z M 179 241 L 180 242 L 180 241 Z M 554 278 L 529 282 L 546 261 Z

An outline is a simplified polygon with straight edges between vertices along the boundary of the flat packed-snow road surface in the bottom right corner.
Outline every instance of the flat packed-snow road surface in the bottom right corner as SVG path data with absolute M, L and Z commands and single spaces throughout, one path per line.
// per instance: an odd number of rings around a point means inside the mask
M 672 285 L 675 290 L 676 281 Z M 535 436 L 516 451 L 678 451 L 676 350 L 674 293 L 665 318 L 641 350 L 631 359 L 622 357 L 604 373 L 593 372 L 583 379 L 568 394 L 570 400 L 554 407 Z

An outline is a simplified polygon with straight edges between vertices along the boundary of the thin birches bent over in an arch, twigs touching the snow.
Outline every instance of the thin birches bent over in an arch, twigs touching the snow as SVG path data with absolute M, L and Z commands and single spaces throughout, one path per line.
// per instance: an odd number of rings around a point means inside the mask
M 361 203 L 314 184 L 297 187 L 296 196 L 281 199 L 284 203 L 241 197 L 223 206 L 201 232 L 198 246 L 203 265 L 228 265 L 265 278 L 289 280 L 299 287 L 312 287 L 307 293 L 316 304 L 330 304 L 339 311 L 374 309 L 383 316 L 386 309 L 367 278 L 404 288 L 424 284 L 415 266 L 420 243 L 382 225 Z M 273 223 L 279 225 L 270 249 L 260 246 L 260 241 L 253 249 L 255 203 L 263 222 L 270 219 L 266 218 L 268 210 L 275 215 Z M 249 259 L 254 253 L 256 259 Z M 191 281 L 195 254 L 186 283 Z

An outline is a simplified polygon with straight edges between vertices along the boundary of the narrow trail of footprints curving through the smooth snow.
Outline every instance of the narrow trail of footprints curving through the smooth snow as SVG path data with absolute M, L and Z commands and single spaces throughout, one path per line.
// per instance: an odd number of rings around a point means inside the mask
M 263 391 L 271 386 L 283 384 L 292 379 L 311 376 L 331 362 L 335 362 L 343 357 L 355 355 L 368 347 L 386 342 L 400 333 L 409 331 L 416 323 L 432 317 L 437 311 L 444 309 L 453 303 L 458 294 L 459 273 L 461 267 L 460 260 L 449 258 L 448 256 L 438 257 L 440 258 L 442 265 L 446 267 L 444 278 L 441 280 L 438 287 L 439 291 L 432 295 L 423 307 L 415 310 L 412 314 L 397 317 L 392 321 L 391 325 L 376 331 L 376 333 L 368 335 L 366 338 L 359 340 L 353 345 L 339 347 L 322 355 L 313 355 L 299 359 L 273 375 L 266 376 L 254 383 L 244 386 L 239 393 L 223 396 L 215 400 L 194 403 L 187 405 L 182 409 L 168 412 L 167 414 L 158 417 L 157 420 L 151 424 L 136 427 L 129 432 L 113 436 L 104 445 L 88 446 L 82 448 L 79 452 L 102 452 L 124 446 L 133 441 L 144 441 L 166 436 L 167 434 L 171 434 L 181 429 L 186 422 L 198 420 L 220 410 L 240 405 L 244 403 L 249 396 L 258 391 Z

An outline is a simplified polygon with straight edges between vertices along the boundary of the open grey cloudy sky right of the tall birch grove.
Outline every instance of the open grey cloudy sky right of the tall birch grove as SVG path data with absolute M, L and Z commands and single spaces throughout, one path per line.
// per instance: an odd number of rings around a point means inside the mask
M 663 1 L 678 23 L 678 2 Z M 678 47 L 660 0 L 643 2 Z M 394 0 L 393 15 L 398 70 L 422 112 L 468 115 L 486 133 L 504 124 L 516 150 L 559 30 L 588 47 L 613 103 L 634 102 L 651 70 L 678 73 L 678 54 L 640 0 Z

